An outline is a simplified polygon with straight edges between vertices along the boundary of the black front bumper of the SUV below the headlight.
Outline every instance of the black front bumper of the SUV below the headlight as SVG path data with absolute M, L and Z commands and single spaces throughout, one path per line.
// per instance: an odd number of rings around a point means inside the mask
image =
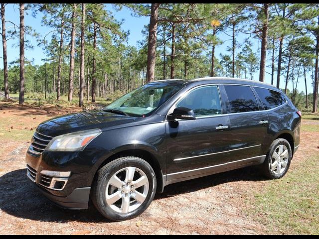
M 61 153 L 43 152 L 39 156 L 26 153 L 25 161 L 27 164 L 27 177 L 35 183 L 36 188 L 56 205 L 66 209 L 87 209 L 90 189 L 92 183 L 92 172 L 90 165 L 80 167 L 77 161 L 82 160 L 85 152 L 64 152 L 63 156 L 72 159 L 72 162 L 65 163 L 61 160 Z M 51 160 L 54 158 L 55 160 Z M 60 160 L 58 160 L 60 159 Z M 56 163 L 59 162 L 59 163 Z M 59 172 L 72 172 L 66 179 L 66 183 L 61 190 L 52 190 L 43 182 L 42 170 Z M 84 170 L 84 172 L 83 172 Z M 46 180 L 46 175 L 44 175 Z M 52 177 L 52 182 L 55 177 Z M 60 178 L 61 179 L 61 178 Z M 51 183 L 52 185 L 52 183 Z

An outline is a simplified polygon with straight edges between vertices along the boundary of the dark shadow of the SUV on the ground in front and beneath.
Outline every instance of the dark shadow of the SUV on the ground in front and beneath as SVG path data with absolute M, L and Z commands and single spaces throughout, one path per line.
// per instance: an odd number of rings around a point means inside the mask
M 265 178 L 260 176 L 255 168 L 248 167 L 168 185 L 162 194 L 156 195 L 155 200 L 241 180 L 260 181 Z M 110 222 L 100 215 L 92 203 L 89 203 L 88 210 L 59 208 L 36 189 L 34 183 L 26 177 L 25 169 L 11 171 L 1 176 L 0 190 L 0 209 L 14 217 L 57 223 Z

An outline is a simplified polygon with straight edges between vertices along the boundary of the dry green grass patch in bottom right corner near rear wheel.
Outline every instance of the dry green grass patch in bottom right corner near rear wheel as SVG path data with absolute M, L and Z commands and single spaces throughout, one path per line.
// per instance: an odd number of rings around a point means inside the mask
M 267 182 L 250 214 L 264 215 L 257 218 L 270 234 L 319 234 L 318 171 L 319 156 L 314 156 L 284 178 Z

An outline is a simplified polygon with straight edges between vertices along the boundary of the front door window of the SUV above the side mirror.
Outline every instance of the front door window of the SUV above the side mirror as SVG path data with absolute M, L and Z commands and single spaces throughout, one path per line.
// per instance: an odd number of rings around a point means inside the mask
M 194 111 L 195 116 L 221 115 L 221 102 L 217 86 L 204 86 L 188 93 L 177 107 L 186 107 Z

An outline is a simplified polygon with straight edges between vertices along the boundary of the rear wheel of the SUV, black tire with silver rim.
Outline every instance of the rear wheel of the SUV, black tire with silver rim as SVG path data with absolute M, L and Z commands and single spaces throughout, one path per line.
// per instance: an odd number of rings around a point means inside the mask
M 289 169 L 291 159 L 292 149 L 290 143 L 284 138 L 277 138 L 270 145 L 262 165 L 262 172 L 269 179 L 282 178 Z

